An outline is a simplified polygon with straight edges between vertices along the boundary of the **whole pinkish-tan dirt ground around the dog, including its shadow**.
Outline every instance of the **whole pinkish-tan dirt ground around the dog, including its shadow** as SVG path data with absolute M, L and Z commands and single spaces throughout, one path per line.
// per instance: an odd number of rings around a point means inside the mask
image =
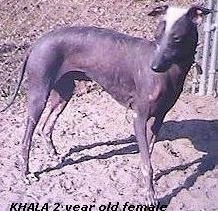
M 1 1 L 0 108 L 14 90 L 23 55 L 43 33 L 63 25 L 95 25 L 151 38 L 156 20 L 147 13 L 152 7 L 194 2 Z M 55 208 L 65 211 L 67 205 L 95 205 L 92 209 L 95 211 L 110 203 L 111 206 L 119 203 L 122 210 L 126 202 L 144 203 L 132 113 L 126 114 L 126 109 L 96 88 L 73 98 L 60 116 L 54 131 L 59 159 L 46 150 L 45 139 L 40 135 L 42 124 L 36 129 L 30 169 L 38 172 L 39 180 L 29 184 L 21 175 L 20 165 L 27 116 L 25 87 L 24 81 L 16 103 L 0 114 L 0 211 L 10 210 L 13 202 L 39 203 L 39 210 L 46 210 L 42 206 L 48 203 L 49 211 Z M 165 119 L 152 163 L 155 190 L 161 202 L 168 204 L 167 210 L 218 210 L 217 108 L 217 98 L 185 92 Z M 82 211 L 85 210 L 84 207 Z

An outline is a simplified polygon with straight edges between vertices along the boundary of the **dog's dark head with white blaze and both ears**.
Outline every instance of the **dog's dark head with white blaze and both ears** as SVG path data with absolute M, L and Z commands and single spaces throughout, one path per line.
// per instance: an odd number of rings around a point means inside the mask
M 156 42 L 157 50 L 151 64 L 155 72 L 165 72 L 172 64 L 180 64 L 195 54 L 198 32 L 197 25 L 211 11 L 201 6 L 190 8 L 156 7 L 148 15 L 160 16 Z

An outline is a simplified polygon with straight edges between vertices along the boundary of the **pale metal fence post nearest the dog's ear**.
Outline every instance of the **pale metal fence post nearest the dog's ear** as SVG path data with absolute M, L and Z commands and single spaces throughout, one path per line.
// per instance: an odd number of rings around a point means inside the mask
M 212 9 L 213 7 L 213 0 L 208 0 L 208 9 Z M 211 22 L 212 22 L 212 14 L 207 16 L 207 20 L 204 26 L 205 31 L 205 39 L 203 45 L 203 58 L 202 58 L 202 75 L 200 79 L 200 86 L 199 86 L 199 95 L 206 94 L 206 83 L 207 83 L 207 76 L 208 76 L 208 58 L 209 58 L 209 49 L 210 49 L 210 34 L 211 34 Z

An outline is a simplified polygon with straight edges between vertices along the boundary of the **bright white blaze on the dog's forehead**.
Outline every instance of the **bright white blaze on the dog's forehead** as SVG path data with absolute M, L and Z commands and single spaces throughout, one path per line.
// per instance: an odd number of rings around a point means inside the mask
M 188 12 L 187 8 L 179 8 L 179 7 L 169 7 L 167 9 L 167 13 L 164 16 L 164 20 L 166 21 L 165 32 L 169 32 L 174 25 L 174 23 L 185 15 Z M 181 26 L 182 27 L 182 26 Z

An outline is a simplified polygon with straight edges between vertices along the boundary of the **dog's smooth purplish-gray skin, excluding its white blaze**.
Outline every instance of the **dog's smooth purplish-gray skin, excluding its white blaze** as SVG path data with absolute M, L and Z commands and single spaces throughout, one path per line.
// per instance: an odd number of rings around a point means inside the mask
M 166 6 L 158 7 L 149 15 L 162 14 L 166 10 Z M 43 131 L 50 148 L 57 153 L 52 131 L 74 93 L 75 81 L 94 80 L 136 113 L 134 128 L 141 154 L 146 201 L 154 203 L 150 160 L 153 143 L 166 113 L 182 92 L 193 63 L 198 39 L 193 19 L 199 10 L 203 14 L 209 13 L 207 9 L 192 7 L 168 34 L 165 34 L 162 22 L 155 42 L 96 27 L 63 28 L 39 39 L 26 57 L 14 95 L 27 70 L 28 119 L 22 141 L 25 174 L 29 173 L 32 136 L 49 96 L 52 103 Z M 52 115 L 54 118 L 45 132 Z

